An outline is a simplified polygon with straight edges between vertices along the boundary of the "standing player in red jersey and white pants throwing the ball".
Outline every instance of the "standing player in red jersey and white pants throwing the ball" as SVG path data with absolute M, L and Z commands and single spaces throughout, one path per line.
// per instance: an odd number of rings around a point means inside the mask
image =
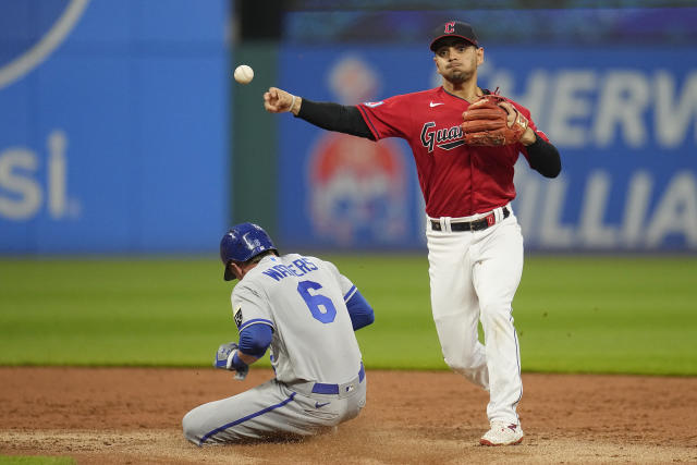
M 555 178 L 561 160 L 526 108 L 478 87 L 484 48 L 469 24 L 439 26 L 430 49 L 440 87 L 358 106 L 314 102 L 271 87 L 264 106 L 326 130 L 409 144 L 426 201 L 431 307 L 443 357 L 490 393 L 490 429 L 479 442 L 517 444 L 523 386 L 511 304 L 523 271 L 523 237 L 510 204 L 514 164 L 523 154 L 533 169 Z

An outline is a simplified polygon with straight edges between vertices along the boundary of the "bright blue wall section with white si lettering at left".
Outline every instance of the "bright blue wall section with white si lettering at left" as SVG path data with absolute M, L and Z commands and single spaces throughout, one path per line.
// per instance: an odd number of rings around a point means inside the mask
M 163 4 L 0 2 L 0 253 L 216 248 L 228 2 Z

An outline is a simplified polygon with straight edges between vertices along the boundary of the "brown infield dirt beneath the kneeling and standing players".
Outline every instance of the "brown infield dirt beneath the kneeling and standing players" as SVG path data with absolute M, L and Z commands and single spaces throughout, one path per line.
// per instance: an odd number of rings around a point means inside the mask
M 0 455 L 139 463 L 697 462 L 697 378 L 524 375 L 521 445 L 485 448 L 488 394 L 452 372 L 368 370 L 368 402 L 337 432 L 197 448 L 191 408 L 271 378 L 211 369 L 0 368 Z

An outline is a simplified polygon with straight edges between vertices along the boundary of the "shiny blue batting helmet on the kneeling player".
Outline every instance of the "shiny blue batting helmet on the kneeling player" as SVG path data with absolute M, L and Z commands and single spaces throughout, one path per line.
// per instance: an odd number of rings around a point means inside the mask
M 276 250 L 271 237 L 254 223 L 242 223 L 232 227 L 220 241 L 220 259 L 225 266 L 225 281 L 232 281 L 235 276 L 228 268 L 230 261 L 244 262 L 266 250 Z

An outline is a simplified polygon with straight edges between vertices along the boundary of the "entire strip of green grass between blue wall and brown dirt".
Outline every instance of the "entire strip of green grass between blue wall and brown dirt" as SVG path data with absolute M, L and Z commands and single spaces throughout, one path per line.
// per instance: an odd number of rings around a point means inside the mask
M 369 368 L 447 369 L 426 254 L 326 258 L 376 310 L 356 333 Z M 230 291 L 215 257 L 2 259 L 0 365 L 209 365 L 237 339 Z M 527 257 L 523 369 L 695 376 L 696 302 L 694 256 Z

